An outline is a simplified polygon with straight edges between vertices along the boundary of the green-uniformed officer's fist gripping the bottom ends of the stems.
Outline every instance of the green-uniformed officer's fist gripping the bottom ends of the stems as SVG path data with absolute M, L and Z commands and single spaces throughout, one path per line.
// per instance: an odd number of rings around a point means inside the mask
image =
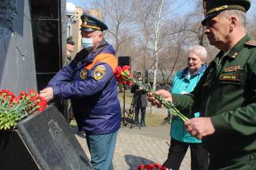
M 204 136 L 214 134 L 215 132 L 209 117 L 191 118 L 184 124 L 186 125 L 186 130 L 197 139 L 202 139 Z

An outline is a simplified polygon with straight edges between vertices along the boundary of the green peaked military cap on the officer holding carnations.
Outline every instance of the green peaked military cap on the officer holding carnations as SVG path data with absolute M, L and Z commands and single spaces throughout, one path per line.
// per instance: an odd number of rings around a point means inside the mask
M 223 10 L 249 10 L 251 6 L 250 0 L 203 0 L 205 18 L 202 21 L 202 25 L 205 25 L 205 21 L 209 18 L 213 18 Z

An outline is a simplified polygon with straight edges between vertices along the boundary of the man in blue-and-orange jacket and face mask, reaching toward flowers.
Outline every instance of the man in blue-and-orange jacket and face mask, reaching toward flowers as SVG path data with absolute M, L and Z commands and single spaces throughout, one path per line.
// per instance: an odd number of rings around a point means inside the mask
M 102 38 L 106 24 L 90 15 L 82 15 L 83 50 L 59 71 L 40 96 L 71 99 L 77 120 L 86 131 L 86 141 L 95 169 L 113 169 L 121 109 L 113 74 L 117 62 L 113 46 Z

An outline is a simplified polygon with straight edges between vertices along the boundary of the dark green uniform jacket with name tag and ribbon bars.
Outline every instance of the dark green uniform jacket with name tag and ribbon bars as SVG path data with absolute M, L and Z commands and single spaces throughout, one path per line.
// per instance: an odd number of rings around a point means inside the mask
M 211 117 L 216 132 L 203 139 L 210 153 L 256 152 L 256 45 L 249 40 L 218 53 L 193 92 L 172 95 L 182 113 Z

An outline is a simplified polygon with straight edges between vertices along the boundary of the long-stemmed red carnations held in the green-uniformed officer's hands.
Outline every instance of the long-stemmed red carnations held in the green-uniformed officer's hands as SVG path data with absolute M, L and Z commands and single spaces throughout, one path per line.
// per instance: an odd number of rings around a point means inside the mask
M 187 117 L 185 117 L 182 113 L 180 113 L 180 111 L 177 110 L 177 108 L 175 108 L 173 103 L 165 101 L 163 99 L 163 97 L 157 96 L 156 94 L 154 94 L 154 92 L 150 88 L 150 85 L 148 85 L 149 88 L 145 87 L 145 85 L 143 85 L 143 83 L 141 81 L 136 80 L 130 73 L 129 69 L 130 69 L 129 66 L 124 66 L 124 67 L 117 66 L 116 67 L 114 74 L 116 76 L 116 81 L 118 81 L 118 83 L 130 85 L 130 86 L 132 84 L 138 85 L 138 87 L 141 87 L 141 89 L 143 89 L 145 92 L 151 92 L 154 95 L 154 97 L 157 99 L 157 101 L 162 103 L 170 111 L 170 113 L 179 117 L 184 122 L 186 122 L 186 120 L 188 120 Z

